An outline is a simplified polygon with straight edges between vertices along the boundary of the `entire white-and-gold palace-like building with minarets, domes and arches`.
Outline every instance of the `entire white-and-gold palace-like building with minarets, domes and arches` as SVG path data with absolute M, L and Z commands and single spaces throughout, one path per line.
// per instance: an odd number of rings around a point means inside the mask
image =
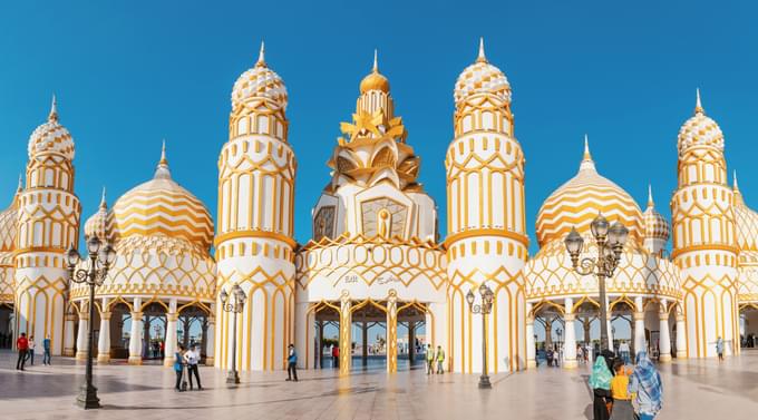
M 165 149 L 152 179 L 110 208 L 104 196 L 85 223 L 85 237 L 111 241 L 117 251 L 96 291 L 96 320 L 87 319 L 86 290 L 69 285 L 62 258 L 79 242 L 80 204 L 74 143 L 54 102 L 29 140 L 26 185 L 0 213 L 0 306 L 13 309 L 16 333 L 50 335 L 54 354 L 84 356 L 89 322 L 99 332 L 100 362 L 116 355 L 116 335 L 128 335 L 122 356 L 134 364 L 145 355 L 148 318 L 165 319 L 171 354 L 179 318 L 195 311 L 205 320 L 207 362 L 227 369 L 236 345 L 236 367 L 250 371 L 285 368 L 290 343 L 301 365 L 311 367 L 323 334 L 315 325 L 328 321 L 339 325 L 341 373 L 351 369 L 354 323 L 386 325 L 388 372 L 398 367 L 398 324 L 412 322 L 424 323 L 426 341 L 445 350 L 447 369 L 480 372 L 486 358 L 499 373 L 535 364 L 535 323 L 550 318 L 568 326 L 564 365 L 572 368 L 573 344 L 589 341 L 600 302 L 596 280 L 574 272 L 563 240 L 575 227 L 592 256 L 590 223 L 602 213 L 629 227 L 630 240 L 608 280 L 610 316 L 601 322 L 626 318 L 632 346 L 654 348 L 661 361 L 712 356 L 719 336 L 728 354 L 738 352 L 740 326 L 744 334 L 758 326 L 758 316 L 742 325 L 738 316 L 758 310 L 758 214 L 736 179 L 727 184 L 723 135 L 699 96 L 679 134 L 671 224 L 655 209 L 652 189 L 642 212 L 600 175 L 585 140 L 576 175 L 540 208 L 540 250 L 529 256 L 525 156 L 512 95 L 480 45 L 454 86 L 447 237 L 440 240 L 436 203 L 418 182 L 421 159 L 375 56 L 352 117 L 340 125 L 330 179 L 311 213 L 312 238 L 300 245 L 288 90 L 261 48 L 232 89 L 215 234 L 205 205 L 173 180 Z M 484 331 L 466 302 L 483 283 L 495 293 Z M 235 284 L 246 295 L 236 330 L 218 297 Z M 116 325 L 126 319 L 128 334 L 119 334 Z M 584 340 L 576 336 L 580 323 Z

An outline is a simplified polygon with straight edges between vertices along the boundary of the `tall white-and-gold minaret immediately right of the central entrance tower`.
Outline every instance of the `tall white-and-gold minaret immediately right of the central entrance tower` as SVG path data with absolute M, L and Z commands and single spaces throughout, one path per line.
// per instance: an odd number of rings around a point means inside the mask
M 450 281 L 448 354 L 456 372 L 480 372 L 482 318 L 466 303 L 478 285 L 495 292 L 487 318 L 490 372 L 523 369 L 526 363 L 524 279 L 527 258 L 524 219 L 524 154 L 514 137 L 511 86 L 487 61 L 479 43 L 476 62 L 455 86 L 455 139 L 447 168 L 447 273 Z

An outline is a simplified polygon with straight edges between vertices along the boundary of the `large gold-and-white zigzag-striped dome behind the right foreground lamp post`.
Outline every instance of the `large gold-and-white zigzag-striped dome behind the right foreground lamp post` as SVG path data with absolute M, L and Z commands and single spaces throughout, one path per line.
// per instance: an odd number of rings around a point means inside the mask
M 642 232 L 642 212 L 634 199 L 620 186 L 597 174 L 584 137 L 584 158 L 576 176 L 554 191 L 537 213 L 540 246 L 563 241 L 576 227 L 590 232 L 590 224 L 602 213 L 610 222 L 619 221 L 638 241 Z

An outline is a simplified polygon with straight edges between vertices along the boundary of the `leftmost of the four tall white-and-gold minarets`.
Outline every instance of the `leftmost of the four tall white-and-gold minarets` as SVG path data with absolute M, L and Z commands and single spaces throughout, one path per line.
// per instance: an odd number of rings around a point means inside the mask
M 47 123 L 29 137 L 27 186 L 18 198 L 16 332 L 64 349 L 68 292 L 65 253 L 79 243 L 81 205 L 74 194 L 74 139 L 58 123 L 56 98 Z M 40 349 L 41 345 L 37 349 Z

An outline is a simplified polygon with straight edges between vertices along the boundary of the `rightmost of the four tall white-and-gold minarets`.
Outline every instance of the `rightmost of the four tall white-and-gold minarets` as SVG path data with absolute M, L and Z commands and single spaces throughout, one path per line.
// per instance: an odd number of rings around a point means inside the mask
M 674 263 L 681 270 L 690 358 L 739 351 L 737 245 L 723 135 L 697 94 L 694 116 L 679 130 L 679 187 L 671 198 Z

